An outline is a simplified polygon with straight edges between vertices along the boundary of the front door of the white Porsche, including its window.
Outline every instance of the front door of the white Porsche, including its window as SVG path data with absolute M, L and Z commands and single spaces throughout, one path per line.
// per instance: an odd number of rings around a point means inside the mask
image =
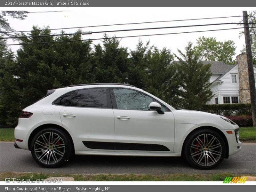
M 164 114 L 149 110 L 156 101 L 143 92 L 111 88 L 115 119 L 116 152 L 172 153 L 174 116 L 163 107 Z

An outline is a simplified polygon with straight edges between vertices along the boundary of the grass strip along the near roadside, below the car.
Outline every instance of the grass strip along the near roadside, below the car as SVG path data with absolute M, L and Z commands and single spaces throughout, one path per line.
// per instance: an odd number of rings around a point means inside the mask
M 0 173 L 0 181 L 4 178 L 20 180 L 46 179 L 48 177 L 73 177 L 75 181 L 223 181 L 226 177 L 240 177 L 232 173 L 217 174 L 50 174 L 50 173 Z M 251 175 L 255 176 L 255 175 Z

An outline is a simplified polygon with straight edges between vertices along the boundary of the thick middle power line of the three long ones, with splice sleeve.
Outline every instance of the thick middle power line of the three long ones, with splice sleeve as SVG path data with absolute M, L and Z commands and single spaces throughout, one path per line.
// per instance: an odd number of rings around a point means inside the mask
M 94 31 L 94 32 L 81 32 L 81 33 L 69 33 L 69 34 L 52 34 L 52 35 L 40 35 L 40 36 L 18 36 L 18 37 L 1 37 L 0 39 L 15 39 L 15 38 L 27 38 L 27 37 L 47 37 L 47 36 L 63 36 L 63 35 L 84 35 L 92 33 L 111 33 L 111 32 L 123 32 L 123 31 L 138 31 L 138 30 L 151 30 L 151 29 L 167 29 L 167 28 L 185 28 L 185 27 L 202 27 L 202 26 L 215 26 L 215 25 L 228 25 L 228 24 L 243 24 L 243 23 L 213 23 L 213 24 L 200 24 L 200 25 L 183 25 L 183 26 L 171 26 L 171 27 L 155 27 L 155 28 L 136 28 L 136 29 L 119 29 L 109 31 Z

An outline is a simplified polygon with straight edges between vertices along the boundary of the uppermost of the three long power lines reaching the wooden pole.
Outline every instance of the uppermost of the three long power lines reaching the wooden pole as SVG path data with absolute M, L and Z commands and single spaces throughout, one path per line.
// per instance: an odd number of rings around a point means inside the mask
M 93 25 L 93 26 L 84 26 L 84 27 L 69 27 L 69 28 L 54 28 L 54 29 L 38 29 L 38 30 L 28 30 L 28 31 L 10 31 L 10 32 L 6 32 L 6 33 L 21 33 L 21 32 L 31 32 L 31 31 L 46 31 L 46 30 L 75 29 L 75 28 L 89 28 L 89 27 L 106 27 L 106 26 L 117 26 L 117 25 L 136 25 L 136 24 L 162 23 L 162 22 L 173 22 L 173 21 L 190 21 L 190 20 L 221 19 L 221 18 L 231 18 L 231 17 L 243 17 L 243 16 L 239 15 L 239 16 L 209 17 L 209 18 L 196 18 L 196 19 L 183 19 L 183 20 L 165 20 L 165 21 L 148 21 L 148 22 L 138 22 L 138 23 L 120 23 L 120 24 Z

